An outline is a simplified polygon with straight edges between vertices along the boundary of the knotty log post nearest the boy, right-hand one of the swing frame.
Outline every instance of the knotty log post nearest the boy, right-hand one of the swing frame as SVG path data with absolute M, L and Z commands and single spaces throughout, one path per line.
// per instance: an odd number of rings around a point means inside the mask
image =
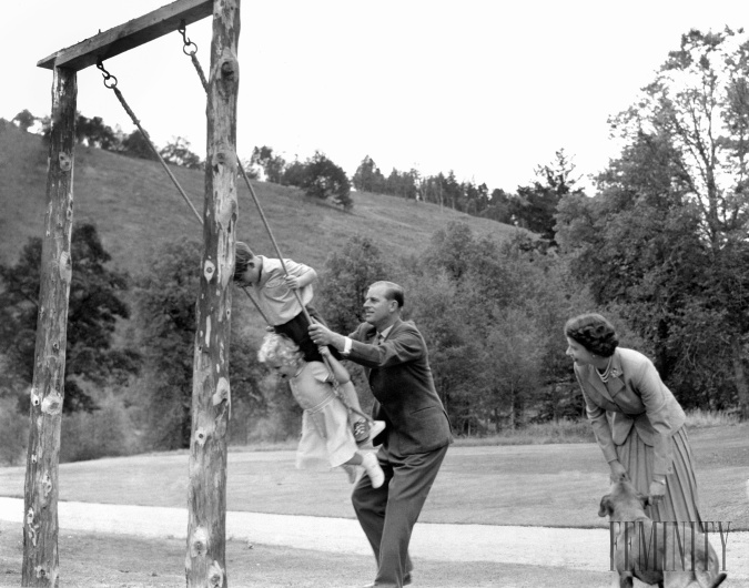
M 226 430 L 236 201 L 240 0 L 215 0 L 208 91 L 204 252 L 195 333 L 190 438 L 188 587 L 227 587 Z

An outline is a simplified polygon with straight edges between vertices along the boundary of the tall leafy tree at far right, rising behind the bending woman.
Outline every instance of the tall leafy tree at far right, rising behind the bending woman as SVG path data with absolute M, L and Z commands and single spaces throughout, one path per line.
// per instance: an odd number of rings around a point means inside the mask
M 559 207 L 577 271 L 652 342 L 680 401 L 736 398 L 745 416 L 748 69 L 742 31 L 682 36 L 636 105 L 611 120 L 627 146 L 601 196 Z

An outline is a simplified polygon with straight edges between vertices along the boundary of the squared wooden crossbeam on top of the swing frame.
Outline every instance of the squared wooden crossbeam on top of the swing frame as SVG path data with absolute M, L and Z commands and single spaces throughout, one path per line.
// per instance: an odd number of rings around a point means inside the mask
M 182 21 L 192 24 L 213 13 L 213 0 L 178 0 L 140 18 L 100 32 L 78 44 L 61 49 L 40 60 L 37 65 L 51 70 L 67 68 L 80 71 L 159 37 L 176 31 Z

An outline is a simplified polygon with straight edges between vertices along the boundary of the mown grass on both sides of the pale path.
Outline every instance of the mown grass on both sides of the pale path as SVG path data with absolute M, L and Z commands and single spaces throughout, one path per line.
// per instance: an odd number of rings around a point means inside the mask
M 704 517 L 749 529 L 749 424 L 690 430 Z M 353 517 L 343 473 L 301 473 L 293 450 L 232 450 L 227 507 Z M 0 496 L 22 497 L 22 467 L 0 468 Z M 188 454 L 154 454 L 60 466 L 60 499 L 184 508 Z M 605 527 L 598 501 L 607 467 L 597 445 L 473 446 L 457 443 L 429 496 L 423 521 Z M 60 531 L 61 585 L 178 588 L 185 585 L 182 539 Z M 21 528 L 0 521 L 0 587 L 21 584 Z M 372 557 L 226 541 L 229 585 L 240 588 L 343 588 L 371 581 Z M 486 561 L 419 561 L 416 586 L 487 588 L 605 587 L 606 570 Z M 738 578 L 737 578 L 738 579 Z M 740 581 L 740 580 L 739 580 Z M 732 581 L 730 586 L 739 586 Z

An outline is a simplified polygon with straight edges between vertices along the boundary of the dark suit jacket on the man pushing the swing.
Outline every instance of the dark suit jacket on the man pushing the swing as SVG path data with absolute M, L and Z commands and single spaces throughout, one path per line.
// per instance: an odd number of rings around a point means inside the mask
M 375 328 L 362 323 L 350 335 L 348 359 L 363 365 L 376 420 L 386 428 L 374 439 L 401 455 L 432 452 L 452 443 L 449 420 L 432 378 L 424 337 L 411 321 L 398 320 L 377 345 Z

